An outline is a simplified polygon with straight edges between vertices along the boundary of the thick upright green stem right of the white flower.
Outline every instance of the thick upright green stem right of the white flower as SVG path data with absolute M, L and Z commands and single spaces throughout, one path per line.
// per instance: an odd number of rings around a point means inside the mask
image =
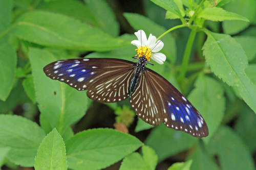
M 189 62 L 189 57 L 191 54 L 191 49 L 193 46 L 193 42 L 195 40 L 196 37 L 196 31 L 195 30 L 191 30 L 189 38 L 187 40 L 187 44 L 186 44 L 186 48 L 185 48 L 185 52 L 183 55 L 183 60 L 182 60 L 182 65 L 181 65 L 181 71 L 180 71 L 180 76 L 179 76 L 179 82 L 183 81 L 183 79 L 185 78 L 185 74 L 187 71 L 187 65 Z

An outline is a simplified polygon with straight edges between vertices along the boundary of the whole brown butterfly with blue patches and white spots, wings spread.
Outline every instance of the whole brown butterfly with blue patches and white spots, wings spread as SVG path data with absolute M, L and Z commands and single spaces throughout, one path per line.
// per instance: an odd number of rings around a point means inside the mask
M 66 83 L 98 102 L 113 103 L 129 98 L 144 122 L 189 133 L 208 136 L 205 120 L 197 109 L 157 72 L 146 67 L 145 56 L 137 62 L 112 58 L 59 60 L 44 67 L 47 77 Z

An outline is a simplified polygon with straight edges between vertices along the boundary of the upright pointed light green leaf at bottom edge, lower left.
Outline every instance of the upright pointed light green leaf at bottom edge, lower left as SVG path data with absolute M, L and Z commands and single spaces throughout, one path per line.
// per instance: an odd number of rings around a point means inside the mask
M 42 141 L 35 158 L 35 169 L 67 169 L 65 143 L 54 128 Z

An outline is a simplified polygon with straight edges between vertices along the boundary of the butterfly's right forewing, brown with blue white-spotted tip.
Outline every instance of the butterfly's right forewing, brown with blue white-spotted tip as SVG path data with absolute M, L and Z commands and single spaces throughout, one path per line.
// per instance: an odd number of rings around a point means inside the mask
M 166 127 L 196 137 L 208 136 L 208 128 L 203 117 L 184 95 L 155 71 L 146 68 L 144 75 L 148 84 L 154 86 L 153 99 L 159 105 L 159 114 Z

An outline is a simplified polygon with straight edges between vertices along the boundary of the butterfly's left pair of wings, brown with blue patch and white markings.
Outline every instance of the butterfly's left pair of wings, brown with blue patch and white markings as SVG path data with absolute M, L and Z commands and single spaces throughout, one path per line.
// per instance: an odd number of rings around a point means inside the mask
M 51 79 L 77 90 L 88 90 L 92 100 L 111 103 L 129 96 L 134 62 L 108 58 L 68 59 L 50 63 L 44 71 Z

